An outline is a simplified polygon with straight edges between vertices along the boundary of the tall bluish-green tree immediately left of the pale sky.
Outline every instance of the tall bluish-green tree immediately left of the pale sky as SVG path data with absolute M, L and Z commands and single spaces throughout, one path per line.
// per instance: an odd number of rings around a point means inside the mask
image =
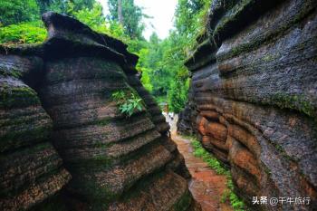
M 134 4 L 134 0 L 109 0 L 108 1 L 110 21 L 122 24 L 124 33 L 131 39 L 143 39 L 142 32 L 144 24 L 142 18 L 147 15 L 142 13 L 142 9 Z

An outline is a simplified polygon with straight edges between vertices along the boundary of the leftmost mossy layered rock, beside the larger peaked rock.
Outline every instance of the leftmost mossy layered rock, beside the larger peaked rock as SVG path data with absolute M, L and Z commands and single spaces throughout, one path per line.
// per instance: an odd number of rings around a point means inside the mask
M 27 85 L 43 60 L 0 51 L 0 209 L 26 210 L 54 197 L 71 176 L 49 142 L 52 120 Z

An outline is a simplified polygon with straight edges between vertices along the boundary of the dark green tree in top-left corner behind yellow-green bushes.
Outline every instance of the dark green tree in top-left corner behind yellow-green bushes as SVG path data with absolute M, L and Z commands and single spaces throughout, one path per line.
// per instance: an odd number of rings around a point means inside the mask
M 0 26 L 34 21 L 39 18 L 39 6 L 35 0 L 1 0 Z

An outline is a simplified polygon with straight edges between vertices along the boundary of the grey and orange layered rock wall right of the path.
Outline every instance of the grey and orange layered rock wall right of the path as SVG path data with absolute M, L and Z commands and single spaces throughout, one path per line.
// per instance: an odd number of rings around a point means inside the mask
M 214 0 L 187 62 L 189 102 L 178 131 L 197 134 L 252 197 L 310 197 L 317 188 L 316 1 Z

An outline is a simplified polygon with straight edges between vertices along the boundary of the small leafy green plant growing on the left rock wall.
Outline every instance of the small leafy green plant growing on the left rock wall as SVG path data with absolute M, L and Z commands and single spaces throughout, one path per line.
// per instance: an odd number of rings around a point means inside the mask
M 124 114 L 127 118 L 130 118 L 138 110 L 140 111 L 145 108 L 143 100 L 134 91 L 115 91 L 112 93 L 111 98 L 117 102 L 120 113 Z

